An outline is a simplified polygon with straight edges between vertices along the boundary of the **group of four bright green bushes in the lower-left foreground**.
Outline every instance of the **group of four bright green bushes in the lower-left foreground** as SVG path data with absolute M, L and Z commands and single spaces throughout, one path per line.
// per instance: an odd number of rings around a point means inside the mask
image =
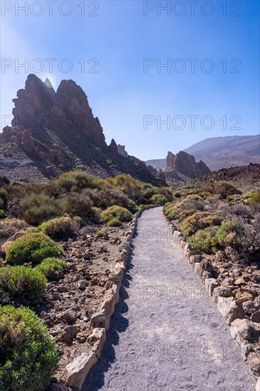
M 43 232 L 29 232 L 11 242 L 0 268 L 0 389 L 45 390 L 58 367 L 58 350 L 48 328 L 33 311 L 15 308 L 32 303 L 45 291 L 65 262 L 63 249 Z M 26 264 L 26 265 L 24 265 Z M 37 265 L 33 268 L 33 266 Z

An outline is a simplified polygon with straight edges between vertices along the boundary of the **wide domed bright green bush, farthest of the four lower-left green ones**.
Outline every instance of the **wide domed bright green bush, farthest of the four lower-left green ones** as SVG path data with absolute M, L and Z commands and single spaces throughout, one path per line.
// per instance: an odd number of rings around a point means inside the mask
M 6 250 L 6 260 L 11 264 L 38 264 L 45 258 L 62 254 L 63 249 L 43 232 L 30 232 L 11 243 Z

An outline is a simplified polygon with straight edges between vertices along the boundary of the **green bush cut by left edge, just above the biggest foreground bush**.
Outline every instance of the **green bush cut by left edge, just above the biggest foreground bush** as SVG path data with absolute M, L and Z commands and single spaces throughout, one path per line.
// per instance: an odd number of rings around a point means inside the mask
M 9 266 L 0 269 L 0 301 L 23 296 L 28 300 L 43 294 L 46 279 L 38 270 L 25 266 Z

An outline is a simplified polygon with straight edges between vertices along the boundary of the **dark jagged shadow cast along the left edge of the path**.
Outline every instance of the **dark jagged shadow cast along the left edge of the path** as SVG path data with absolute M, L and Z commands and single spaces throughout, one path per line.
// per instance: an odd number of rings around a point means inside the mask
M 92 367 L 90 373 L 87 375 L 82 391 L 97 391 L 104 385 L 104 373 L 109 370 L 111 364 L 116 360 L 114 346 L 119 343 L 119 334 L 126 331 L 129 325 L 129 321 L 124 318 L 123 314 L 128 311 L 128 306 L 125 300 L 129 295 L 126 289 L 129 287 L 132 277 L 129 272 L 133 269 L 134 265 L 131 262 L 134 253 L 134 246 L 131 245 L 129 252 L 129 260 L 127 262 L 126 272 L 122 281 L 120 289 L 119 302 L 115 308 L 114 314 L 110 320 L 110 328 L 107 331 L 107 341 L 102 350 L 101 358 L 97 361 L 97 364 Z

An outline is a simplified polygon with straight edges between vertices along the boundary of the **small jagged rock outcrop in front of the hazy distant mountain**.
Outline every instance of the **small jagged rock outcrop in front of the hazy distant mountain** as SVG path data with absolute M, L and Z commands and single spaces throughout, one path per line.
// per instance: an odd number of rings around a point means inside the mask
M 196 162 L 194 156 L 187 154 L 187 152 L 180 151 L 176 155 L 168 152 L 166 173 L 170 174 L 170 176 L 178 176 L 181 173 L 188 178 L 198 178 L 210 172 L 210 168 L 203 161 Z

